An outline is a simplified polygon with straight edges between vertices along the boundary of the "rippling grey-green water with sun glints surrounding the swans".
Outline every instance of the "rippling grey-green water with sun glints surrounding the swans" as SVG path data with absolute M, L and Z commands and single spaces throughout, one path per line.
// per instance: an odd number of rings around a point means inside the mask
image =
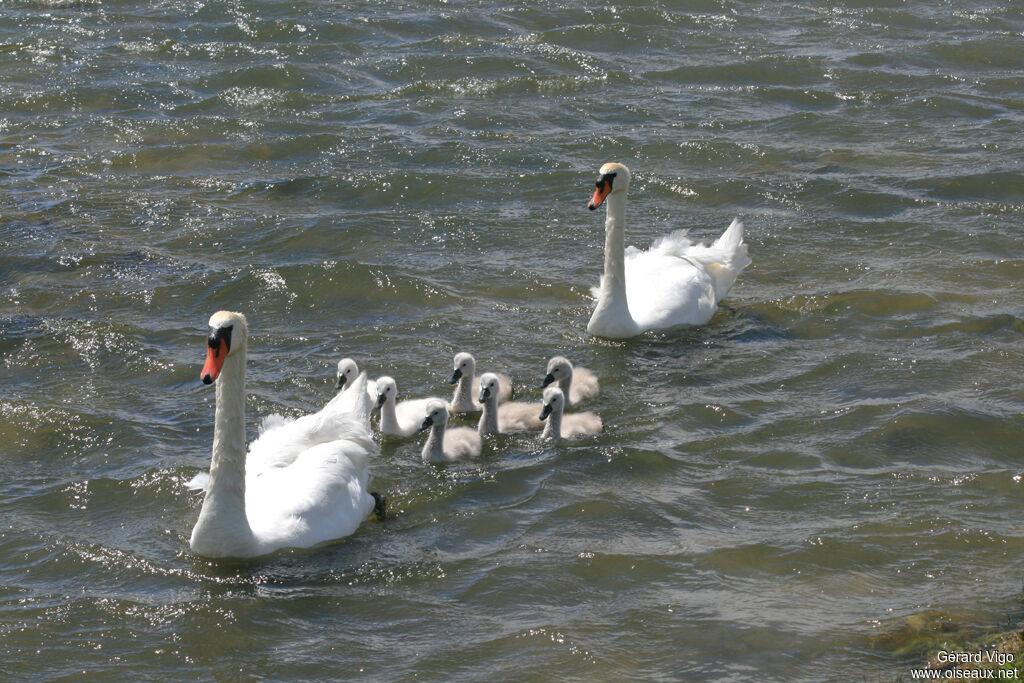
M 889 680 L 1020 617 L 1009 4 L 4 2 L 2 677 Z M 632 244 L 745 221 L 708 326 L 586 336 L 612 160 Z M 250 437 L 459 350 L 607 428 L 385 444 L 391 519 L 206 562 L 220 308 Z

